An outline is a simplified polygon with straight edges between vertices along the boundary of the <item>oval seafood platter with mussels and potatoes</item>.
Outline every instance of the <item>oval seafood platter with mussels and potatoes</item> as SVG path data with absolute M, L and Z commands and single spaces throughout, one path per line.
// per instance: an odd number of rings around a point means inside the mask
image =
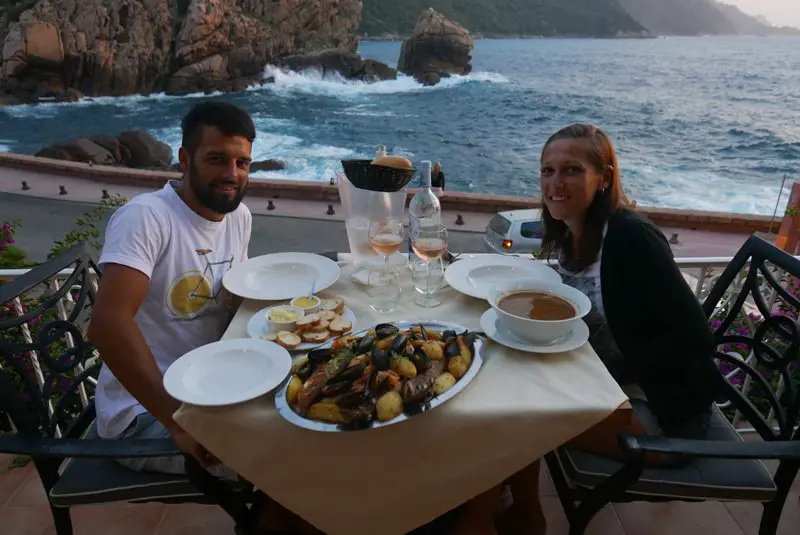
M 336 338 L 298 359 L 275 395 L 299 427 L 340 432 L 432 410 L 478 374 L 482 339 L 441 321 L 396 321 Z

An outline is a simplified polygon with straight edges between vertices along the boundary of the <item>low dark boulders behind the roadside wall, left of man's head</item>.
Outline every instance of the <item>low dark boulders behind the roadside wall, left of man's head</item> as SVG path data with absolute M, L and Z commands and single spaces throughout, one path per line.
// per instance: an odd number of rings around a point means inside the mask
M 147 132 L 129 130 L 119 136 L 79 137 L 56 143 L 35 156 L 137 169 L 169 169 L 172 148 Z

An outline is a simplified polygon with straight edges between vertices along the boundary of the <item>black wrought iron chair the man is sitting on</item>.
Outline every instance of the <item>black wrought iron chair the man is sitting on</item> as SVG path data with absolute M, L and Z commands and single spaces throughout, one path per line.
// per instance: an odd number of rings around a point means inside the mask
M 182 453 L 166 439 L 97 435 L 101 361 L 84 335 L 99 277 L 91 248 L 79 244 L 0 286 L 0 420 L 13 430 L 0 434 L 0 453 L 32 459 L 58 535 L 72 534 L 71 507 L 110 502 L 217 504 L 237 532 L 251 532 L 249 505 L 260 496 L 252 485 L 228 486 L 188 456 L 187 477 L 135 472 L 114 458 Z

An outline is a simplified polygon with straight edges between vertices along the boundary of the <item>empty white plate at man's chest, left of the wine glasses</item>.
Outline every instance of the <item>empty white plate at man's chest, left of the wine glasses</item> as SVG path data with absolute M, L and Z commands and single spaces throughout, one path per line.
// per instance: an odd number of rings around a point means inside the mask
M 260 301 L 294 299 L 332 286 L 342 273 L 339 264 L 312 253 L 274 253 L 251 258 L 228 270 L 222 279 L 234 295 Z M 316 281 L 316 283 L 315 283 Z

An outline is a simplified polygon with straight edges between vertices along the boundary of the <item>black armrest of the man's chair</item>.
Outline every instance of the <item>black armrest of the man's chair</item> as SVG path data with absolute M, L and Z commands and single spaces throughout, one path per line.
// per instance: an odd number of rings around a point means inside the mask
M 182 455 L 172 439 L 79 439 L 0 436 L 0 453 L 31 457 L 162 457 Z

